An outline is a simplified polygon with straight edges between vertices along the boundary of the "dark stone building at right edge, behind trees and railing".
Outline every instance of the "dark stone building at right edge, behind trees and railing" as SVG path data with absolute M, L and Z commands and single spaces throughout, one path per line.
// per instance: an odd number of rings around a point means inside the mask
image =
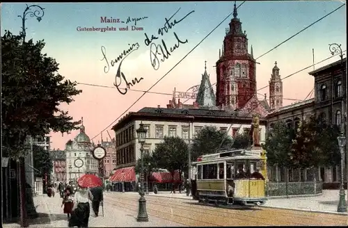
M 335 124 L 342 129 L 347 129 L 345 125 L 345 113 L 347 113 L 347 103 L 345 96 L 345 72 L 346 59 L 338 60 L 308 74 L 315 77 L 315 98 L 301 101 L 290 106 L 278 108 L 267 115 L 267 129 L 271 129 L 273 124 L 284 121 L 289 127 L 297 128 L 299 123 L 308 115 L 322 115 L 330 124 Z M 345 134 L 347 136 L 347 134 Z M 347 173 L 347 158 L 344 158 L 345 170 Z M 285 172 L 280 168 L 269 168 L 269 179 L 271 181 L 285 181 Z M 307 179 L 306 170 L 290 170 L 290 181 L 305 181 Z M 317 179 L 327 184 L 335 184 L 338 188 L 340 182 L 339 165 L 333 167 L 319 167 L 317 169 Z M 344 175 L 347 181 L 347 175 Z

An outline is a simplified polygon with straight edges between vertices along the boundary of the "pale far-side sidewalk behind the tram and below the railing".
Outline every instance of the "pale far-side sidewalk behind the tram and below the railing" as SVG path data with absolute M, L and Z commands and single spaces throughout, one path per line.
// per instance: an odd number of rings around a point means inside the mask
M 347 193 L 347 191 L 346 191 Z M 150 197 L 167 197 L 177 199 L 192 199 L 186 195 L 186 193 L 169 193 L 159 192 L 158 194 L 150 193 Z M 316 196 L 301 196 L 301 197 L 269 197 L 265 207 L 279 208 L 279 209 L 292 209 L 299 211 L 315 211 L 322 213 L 338 213 L 338 197 L 339 190 L 323 190 L 321 195 Z M 346 196 L 347 199 L 347 196 Z M 340 213 L 342 214 L 342 213 Z M 347 214 L 347 213 L 345 213 Z

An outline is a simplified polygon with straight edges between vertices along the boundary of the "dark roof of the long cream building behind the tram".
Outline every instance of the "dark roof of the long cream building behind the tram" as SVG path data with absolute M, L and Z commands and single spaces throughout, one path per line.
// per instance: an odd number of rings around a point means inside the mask
M 197 122 L 216 122 L 216 123 L 232 123 L 251 124 L 252 113 L 243 111 L 224 111 L 203 108 L 141 108 L 140 111 L 134 113 L 129 112 L 122 117 L 112 129 L 120 129 L 133 120 L 158 120 L 158 121 L 197 121 Z M 260 118 L 260 122 L 266 123 L 265 118 Z

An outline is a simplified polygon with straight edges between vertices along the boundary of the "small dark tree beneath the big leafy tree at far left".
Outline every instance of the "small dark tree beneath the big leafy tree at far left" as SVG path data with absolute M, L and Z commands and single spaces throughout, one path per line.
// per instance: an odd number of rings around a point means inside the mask
M 33 166 L 39 172 L 35 172 L 36 177 L 42 177 L 45 173 L 52 171 L 52 157 L 43 147 L 33 145 Z

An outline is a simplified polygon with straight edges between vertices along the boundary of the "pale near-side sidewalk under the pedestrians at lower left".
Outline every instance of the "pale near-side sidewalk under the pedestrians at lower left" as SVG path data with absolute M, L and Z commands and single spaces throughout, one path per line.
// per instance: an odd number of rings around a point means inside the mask
M 34 197 L 36 211 L 39 218 L 31 220 L 29 227 L 68 227 L 68 217 L 61 208 L 62 199 L 56 197 L 47 197 L 39 195 Z M 100 208 L 100 216 L 97 218 L 92 215 L 90 208 L 89 227 L 182 227 L 182 225 L 168 220 L 163 220 L 149 215 L 149 222 L 137 222 L 136 212 L 127 209 L 118 209 L 104 202 L 104 217 Z M 3 227 L 20 227 L 16 223 L 5 224 Z

